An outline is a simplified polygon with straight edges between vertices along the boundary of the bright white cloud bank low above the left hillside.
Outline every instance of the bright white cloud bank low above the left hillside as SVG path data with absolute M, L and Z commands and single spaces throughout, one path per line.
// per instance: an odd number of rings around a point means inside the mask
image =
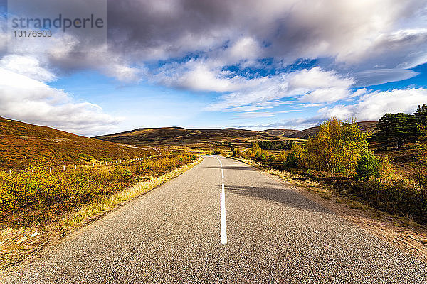
M 80 135 L 111 131 L 122 119 L 38 80 L 0 68 L 0 116 Z

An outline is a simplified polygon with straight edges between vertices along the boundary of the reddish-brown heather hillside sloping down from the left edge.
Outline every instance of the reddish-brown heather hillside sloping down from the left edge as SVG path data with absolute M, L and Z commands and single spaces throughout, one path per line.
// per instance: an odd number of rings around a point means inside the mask
M 73 165 L 88 160 L 124 159 L 154 155 L 152 148 L 131 148 L 0 117 L 0 169 L 19 169 L 46 160 Z

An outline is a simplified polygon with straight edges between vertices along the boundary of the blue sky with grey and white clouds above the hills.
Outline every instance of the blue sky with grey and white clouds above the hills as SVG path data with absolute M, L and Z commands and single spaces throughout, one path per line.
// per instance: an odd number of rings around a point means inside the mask
M 427 103 L 425 0 L 75 0 L 63 11 L 101 15 L 105 30 L 17 43 L 8 23 L 34 3 L 0 0 L 9 119 L 84 136 L 259 131 L 376 121 Z

